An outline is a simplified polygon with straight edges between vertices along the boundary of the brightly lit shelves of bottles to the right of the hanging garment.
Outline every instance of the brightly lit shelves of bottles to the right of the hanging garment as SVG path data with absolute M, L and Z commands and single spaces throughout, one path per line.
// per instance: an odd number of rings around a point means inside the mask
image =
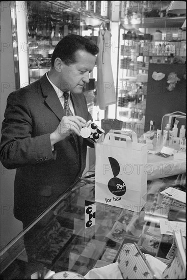
M 185 17 L 144 17 L 140 9 L 139 13 L 136 10 L 136 3 L 120 21 L 121 51 L 116 117 L 125 123 L 142 123 L 144 126 L 149 64 L 172 63 L 175 55 L 185 59 L 186 40 L 176 38 L 166 40 L 166 30 L 173 29 L 176 33 Z M 138 5 L 140 8 L 141 5 L 139 3 Z M 154 40 L 153 33 L 160 28 L 163 31 L 163 38 Z

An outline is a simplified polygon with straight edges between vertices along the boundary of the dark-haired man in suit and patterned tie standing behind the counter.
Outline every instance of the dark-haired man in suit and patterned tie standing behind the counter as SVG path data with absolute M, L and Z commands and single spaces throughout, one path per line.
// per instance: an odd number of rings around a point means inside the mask
M 89 142 L 80 130 L 92 117 L 82 90 L 97 53 L 98 47 L 82 36 L 64 37 L 52 54 L 49 72 L 7 99 L 1 161 L 7 169 L 17 169 L 14 215 L 23 227 L 85 169 Z

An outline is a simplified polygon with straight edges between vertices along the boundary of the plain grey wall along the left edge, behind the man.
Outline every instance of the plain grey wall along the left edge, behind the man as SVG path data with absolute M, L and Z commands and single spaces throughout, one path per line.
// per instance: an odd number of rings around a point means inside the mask
M 15 89 L 12 44 L 12 26 L 9 2 L 1 2 L 1 124 L 8 95 Z M 1 136 L 1 135 L 0 135 Z M 14 218 L 13 197 L 16 170 L 7 170 L 1 163 L 1 248 L 22 229 L 22 223 Z

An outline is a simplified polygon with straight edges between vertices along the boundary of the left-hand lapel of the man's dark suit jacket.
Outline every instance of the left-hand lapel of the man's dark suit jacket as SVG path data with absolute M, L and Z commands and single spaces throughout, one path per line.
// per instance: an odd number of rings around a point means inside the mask
M 43 77 L 41 77 L 40 84 L 41 84 L 43 95 L 46 96 L 45 102 L 61 121 L 62 117 L 65 116 L 65 111 L 62 107 L 62 104 L 54 88 L 51 86 L 50 82 L 48 81 L 46 74 Z

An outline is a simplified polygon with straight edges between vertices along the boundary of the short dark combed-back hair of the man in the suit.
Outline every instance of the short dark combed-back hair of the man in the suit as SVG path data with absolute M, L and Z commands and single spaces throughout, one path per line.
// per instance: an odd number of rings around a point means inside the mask
M 96 55 L 99 52 L 98 46 L 90 39 L 80 35 L 70 34 L 60 40 L 52 53 L 51 67 L 54 67 L 55 59 L 60 58 L 66 65 L 76 62 L 75 52 L 86 50 Z

